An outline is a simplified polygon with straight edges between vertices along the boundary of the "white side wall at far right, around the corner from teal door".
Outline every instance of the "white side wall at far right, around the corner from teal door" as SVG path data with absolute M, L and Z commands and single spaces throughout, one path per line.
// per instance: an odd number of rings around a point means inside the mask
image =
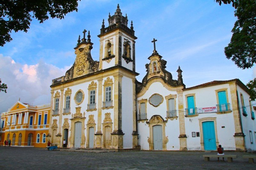
M 256 120 L 252 120 L 252 115 L 251 115 L 251 109 L 250 109 L 250 103 L 249 103 L 249 94 L 244 91 L 240 86 L 237 87 L 237 93 L 238 93 L 238 100 L 239 100 L 239 108 L 240 108 L 240 115 L 241 115 L 241 120 L 242 120 L 242 127 L 243 127 L 243 132 L 244 132 L 244 139 L 245 139 L 245 148 L 247 151 L 256 151 Z M 246 114 L 247 116 L 243 115 L 243 108 L 242 108 L 242 101 L 241 101 L 241 94 L 243 95 L 244 98 L 244 107 L 246 108 Z M 252 103 L 253 104 L 253 103 Z M 252 106 L 252 111 L 253 106 Z M 255 115 L 255 112 L 254 112 Z M 250 138 L 250 132 L 251 133 L 251 138 Z M 251 143 L 252 141 L 252 143 Z

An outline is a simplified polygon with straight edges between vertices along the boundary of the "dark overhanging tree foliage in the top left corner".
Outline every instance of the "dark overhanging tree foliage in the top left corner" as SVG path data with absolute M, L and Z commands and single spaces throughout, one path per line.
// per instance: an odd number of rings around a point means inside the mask
M 12 31 L 27 32 L 32 18 L 40 23 L 49 16 L 62 19 L 77 6 L 78 0 L 0 0 L 0 46 L 12 40 Z

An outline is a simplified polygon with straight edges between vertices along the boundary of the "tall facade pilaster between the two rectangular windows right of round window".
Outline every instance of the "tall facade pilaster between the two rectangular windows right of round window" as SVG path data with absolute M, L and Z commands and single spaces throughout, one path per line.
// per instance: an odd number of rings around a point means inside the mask
M 102 45 L 103 47 L 103 45 Z M 97 132 L 95 134 L 95 147 L 101 148 L 101 140 L 102 140 L 102 131 L 101 131 L 101 116 L 102 116 L 102 78 L 98 79 L 99 87 L 98 87 L 98 124 L 97 124 Z M 88 137 L 87 137 L 88 138 Z

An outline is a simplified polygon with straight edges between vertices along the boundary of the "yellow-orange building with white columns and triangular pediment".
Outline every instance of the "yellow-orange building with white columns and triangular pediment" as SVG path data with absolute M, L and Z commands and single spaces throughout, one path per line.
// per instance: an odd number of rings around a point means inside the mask
M 11 139 L 12 146 L 47 146 L 50 104 L 32 106 L 16 102 L 7 112 L 1 114 L 0 140 Z

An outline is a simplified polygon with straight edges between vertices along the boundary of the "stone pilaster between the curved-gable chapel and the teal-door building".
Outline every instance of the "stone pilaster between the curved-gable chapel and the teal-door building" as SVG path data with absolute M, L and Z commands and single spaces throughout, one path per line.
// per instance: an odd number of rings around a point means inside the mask
M 184 110 L 184 105 L 183 105 L 183 90 L 179 89 L 177 90 L 178 94 L 178 105 L 179 105 L 179 110 Z M 180 124 L 180 151 L 186 151 L 188 150 L 187 148 L 187 135 L 185 131 L 185 116 L 183 111 L 179 111 L 179 124 Z

